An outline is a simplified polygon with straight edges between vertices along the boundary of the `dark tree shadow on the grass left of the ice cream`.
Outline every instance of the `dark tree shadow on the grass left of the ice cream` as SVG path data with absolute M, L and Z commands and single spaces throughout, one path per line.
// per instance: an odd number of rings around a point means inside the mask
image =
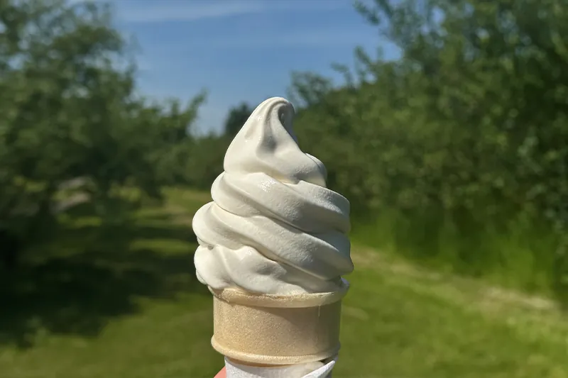
M 120 221 L 114 212 L 81 226 L 86 210 L 28 251 L 18 269 L 0 272 L 0 343 L 29 348 L 43 333 L 94 337 L 112 318 L 141 311 L 140 299 L 209 295 L 195 278 L 190 227 L 159 212 L 122 213 Z

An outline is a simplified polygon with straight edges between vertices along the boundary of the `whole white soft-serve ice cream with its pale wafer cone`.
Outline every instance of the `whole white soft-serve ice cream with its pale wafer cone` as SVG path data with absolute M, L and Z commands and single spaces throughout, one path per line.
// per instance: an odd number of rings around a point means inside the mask
M 329 376 L 349 289 L 339 277 L 354 268 L 349 201 L 300 150 L 293 116 L 279 97 L 255 109 L 192 222 L 197 279 L 214 294 L 213 348 L 231 369 L 260 367 L 251 377 Z

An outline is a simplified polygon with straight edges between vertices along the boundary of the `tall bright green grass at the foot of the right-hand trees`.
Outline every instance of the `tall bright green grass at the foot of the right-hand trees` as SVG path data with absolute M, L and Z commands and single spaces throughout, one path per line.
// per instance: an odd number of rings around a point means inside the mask
M 555 274 L 558 235 L 527 213 L 474 219 L 471 213 L 406 214 L 385 209 L 373 221 L 355 222 L 352 237 L 418 264 L 503 287 L 565 297 Z

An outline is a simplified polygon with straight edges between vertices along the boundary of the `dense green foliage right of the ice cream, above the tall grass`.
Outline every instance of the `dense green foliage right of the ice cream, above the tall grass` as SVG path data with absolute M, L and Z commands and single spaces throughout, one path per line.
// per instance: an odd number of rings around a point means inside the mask
M 321 91 L 326 80 L 313 74 L 293 83 L 304 104 L 300 143 L 359 213 L 441 211 L 481 225 L 523 213 L 566 235 L 566 5 L 359 2 L 400 60 L 359 49 L 364 69 L 346 87 Z M 550 251 L 558 292 L 566 292 L 566 253 L 562 243 Z

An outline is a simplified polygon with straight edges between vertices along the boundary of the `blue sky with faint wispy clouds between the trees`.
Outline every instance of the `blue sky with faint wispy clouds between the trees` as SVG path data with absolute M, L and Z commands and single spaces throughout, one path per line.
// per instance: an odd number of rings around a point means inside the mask
M 230 106 L 285 96 L 290 72 L 337 77 L 363 46 L 395 50 L 350 0 L 114 0 L 116 26 L 136 39 L 139 87 L 163 99 L 207 89 L 200 130 L 220 130 Z

